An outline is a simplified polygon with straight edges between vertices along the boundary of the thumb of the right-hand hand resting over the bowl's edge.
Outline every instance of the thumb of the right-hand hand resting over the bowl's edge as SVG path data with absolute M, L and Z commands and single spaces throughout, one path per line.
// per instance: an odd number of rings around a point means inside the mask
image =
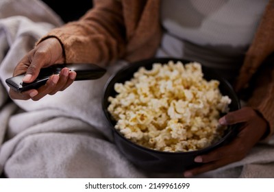
M 249 119 L 256 116 L 256 112 L 252 108 L 241 108 L 233 112 L 227 113 L 227 115 L 219 119 L 221 125 L 233 125 L 236 123 L 242 123 L 249 121 Z

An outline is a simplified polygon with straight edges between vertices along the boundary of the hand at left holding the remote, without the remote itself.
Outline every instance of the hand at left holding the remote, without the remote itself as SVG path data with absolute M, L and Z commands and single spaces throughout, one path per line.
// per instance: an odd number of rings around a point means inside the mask
M 49 67 L 52 64 L 63 63 L 64 56 L 62 45 L 57 38 L 47 38 L 39 43 L 32 51 L 29 51 L 24 58 L 16 65 L 13 76 L 26 73 L 23 82 L 33 82 L 41 68 Z M 40 88 L 18 93 L 10 89 L 12 99 L 33 99 L 37 101 L 45 95 L 53 95 L 63 91 L 75 80 L 76 73 L 68 68 L 62 69 L 60 75 L 52 75 L 47 83 Z

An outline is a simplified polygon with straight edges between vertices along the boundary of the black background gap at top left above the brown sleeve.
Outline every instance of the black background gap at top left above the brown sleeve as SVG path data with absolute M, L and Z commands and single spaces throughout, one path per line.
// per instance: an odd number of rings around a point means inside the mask
M 77 1 L 57 1 L 57 0 L 42 0 L 51 9 L 53 9 L 65 23 L 75 21 L 83 16 L 87 10 L 92 8 L 92 0 L 77 0 Z M 61 3 L 61 4 L 60 4 Z

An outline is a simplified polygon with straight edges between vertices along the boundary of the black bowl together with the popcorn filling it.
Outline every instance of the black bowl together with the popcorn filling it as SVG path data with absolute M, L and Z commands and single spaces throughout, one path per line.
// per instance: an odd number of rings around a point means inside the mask
M 237 125 L 219 119 L 240 103 L 229 82 L 199 62 L 153 58 L 112 75 L 102 106 L 114 143 L 134 165 L 181 172 L 233 139 Z

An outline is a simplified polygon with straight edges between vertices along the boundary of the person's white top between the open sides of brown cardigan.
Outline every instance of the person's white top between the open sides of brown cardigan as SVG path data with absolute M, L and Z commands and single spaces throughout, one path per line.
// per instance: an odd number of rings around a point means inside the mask
M 268 0 L 162 0 L 158 57 L 185 58 L 237 74 Z

